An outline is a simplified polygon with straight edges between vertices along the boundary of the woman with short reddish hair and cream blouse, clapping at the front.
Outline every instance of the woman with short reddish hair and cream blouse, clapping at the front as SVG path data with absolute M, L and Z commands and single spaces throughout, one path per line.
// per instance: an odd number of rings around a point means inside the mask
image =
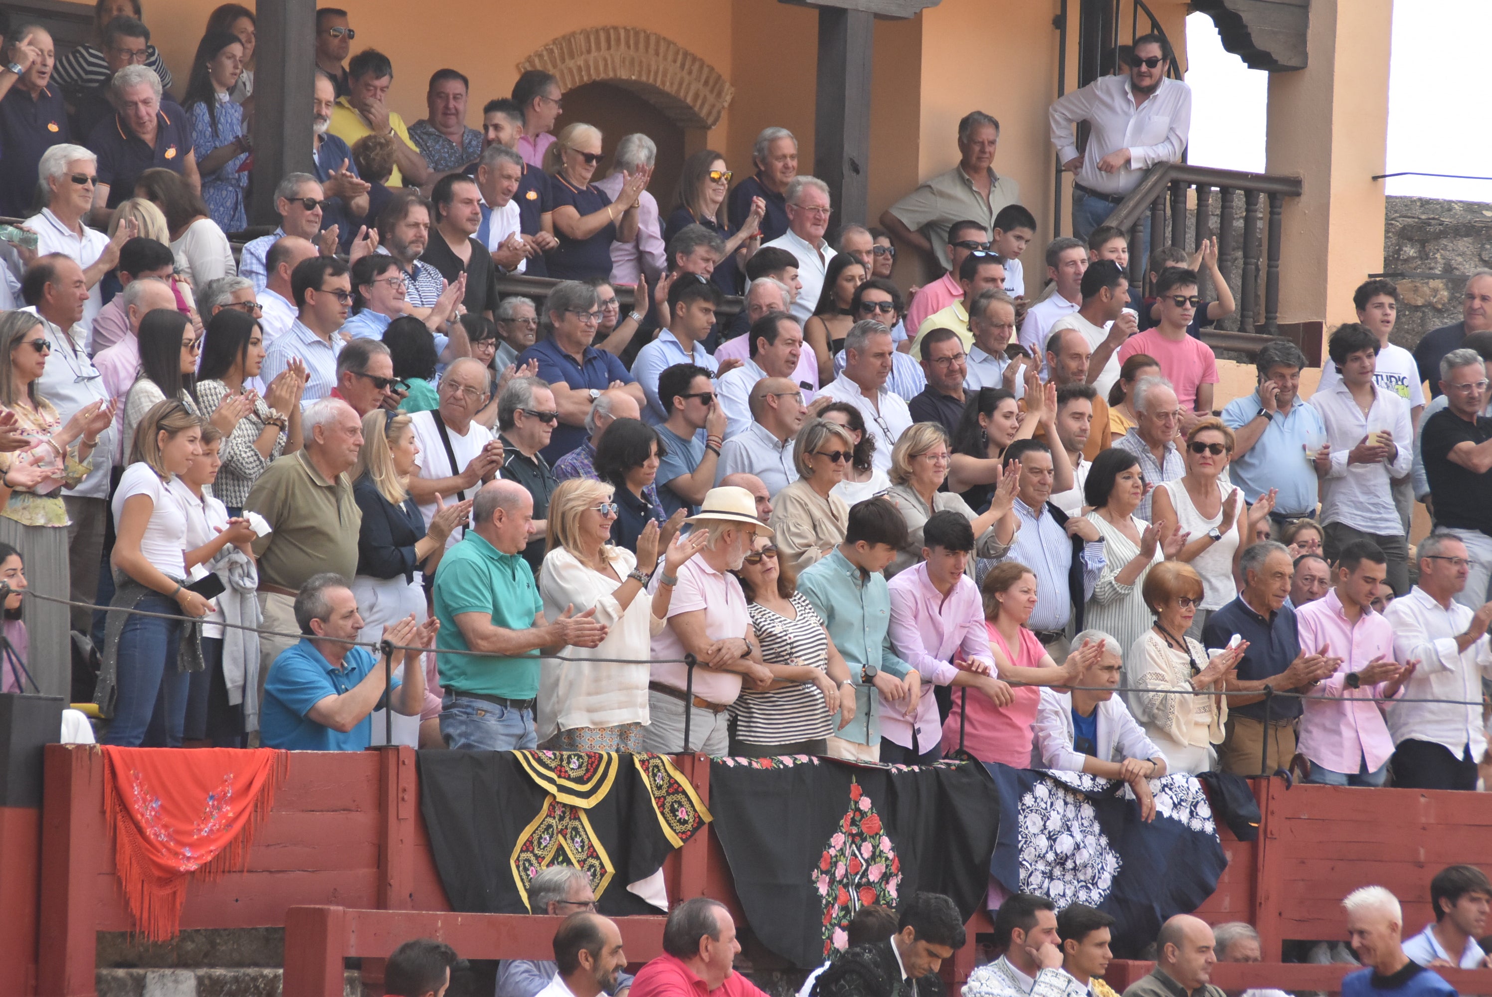
M 1155 625 L 1140 634 L 1125 658 L 1129 685 L 1144 690 L 1132 694 L 1135 719 L 1165 755 L 1167 772 L 1207 772 L 1228 719 L 1228 697 L 1210 693 L 1222 693 L 1237 676 L 1249 642 L 1240 640 L 1209 660 L 1203 645 L 1186 636 L 1203 601 L 1203 578 L 1191 564 L 1161 561 L 1146 575 L 1141 594 Z

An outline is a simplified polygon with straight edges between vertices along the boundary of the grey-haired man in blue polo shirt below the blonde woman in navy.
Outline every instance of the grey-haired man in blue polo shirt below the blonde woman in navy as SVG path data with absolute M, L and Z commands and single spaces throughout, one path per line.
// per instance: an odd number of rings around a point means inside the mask
M 648 400 L 642 385 L 621 360 L 591 346 L 601 319 L 594 287 L 580 281 L 561 281 L 549 291 L 543 307 L 549 313 L 552 334 L 525 349 L 518 366 L 537 363 L 539 376 L 549 382 L 549 390 L 555 394 L 560 424 L 549 437 L 549 446 L 540 451 L 554 464 L 585 442 L 585 416 L 603 391 L 618 387 L 633 396 L 639 407 L 648 404 Z

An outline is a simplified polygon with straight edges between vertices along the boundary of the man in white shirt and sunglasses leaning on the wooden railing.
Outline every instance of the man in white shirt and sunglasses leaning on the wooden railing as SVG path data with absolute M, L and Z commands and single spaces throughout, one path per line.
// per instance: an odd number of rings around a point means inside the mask
M 1086 239 L 1156 163 L 1179 163 L 1192 127 L 1192 91 L 1167 79 L 1170 46 L 1161 34 L 1134 40 L 1128 76 L 1100 76 L 1058 97 L 1047 110 L 1052 145 L 1074 173 L 1073 234 Z M 1089 125 L 1079 152 L 1074 125 Z M 1146 222 L 1149 224 L 1149 222 Z M 1149 249 L 1141 249 L 1141 258 Z

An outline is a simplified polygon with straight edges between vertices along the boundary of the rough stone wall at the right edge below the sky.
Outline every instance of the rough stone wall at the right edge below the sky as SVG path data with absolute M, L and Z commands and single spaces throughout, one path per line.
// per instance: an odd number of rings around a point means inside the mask
M 1413 348 L 1437 325 L 1461 321 L 1467 275 L 1492 267 L 1492 204 L 1389 197 L 1383 272 L 1398 284 L 1394 342 Z

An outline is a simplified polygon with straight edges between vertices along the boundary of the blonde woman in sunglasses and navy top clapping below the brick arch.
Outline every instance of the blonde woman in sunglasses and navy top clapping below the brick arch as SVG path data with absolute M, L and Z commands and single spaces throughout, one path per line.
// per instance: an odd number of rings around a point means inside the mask
M 610 275 L 612 242 L 637 237 L 637 204 L 652 170 L 642 167 L 622 181 L 613 201 L 591 182 L 600 161 L 601 130 L 579 121 L 565 125 L 545 151 L 545 172 L 554 178 L 554 210 L 545 230 L 560 240 L 545 264 L 558 281 Z

